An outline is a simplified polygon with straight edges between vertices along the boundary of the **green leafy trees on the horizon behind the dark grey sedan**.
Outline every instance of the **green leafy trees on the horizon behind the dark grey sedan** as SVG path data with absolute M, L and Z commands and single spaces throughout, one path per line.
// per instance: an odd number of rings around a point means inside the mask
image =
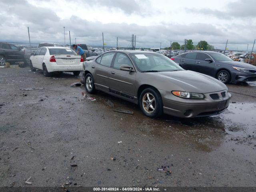
M 166 47 L 164 49 L 184 49 L 185 48 L 185 44 L 180 45 L 178 42 L 172 42 L 172 46 L 171 47 Z M 214 50 L 214 46 L 208 44 L 207 41 L 200 41 L 198 42 L 197 45 L 194 45 L 192 39 L 188 39 L 186 40 L 186 49 L 187 50 Z

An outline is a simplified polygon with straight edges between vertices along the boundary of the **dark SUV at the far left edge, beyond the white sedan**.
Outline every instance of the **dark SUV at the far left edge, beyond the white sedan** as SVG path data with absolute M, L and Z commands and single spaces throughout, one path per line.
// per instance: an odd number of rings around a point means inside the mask
M 15 62 L 24 62 L 24 51 L 13 44 L 0 42 L 0 66 L 4 66 L 6 62 L 14 64 Z

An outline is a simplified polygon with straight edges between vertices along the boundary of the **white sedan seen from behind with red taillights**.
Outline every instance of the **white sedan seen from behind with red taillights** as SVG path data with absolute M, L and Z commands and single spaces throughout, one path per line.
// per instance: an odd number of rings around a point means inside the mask
M 49 77 L 52 72 L 73 72 L 75 76 L 83 70 L 84 59 L 70 48 L 41 47 L 30 56 L 30 69 L 43 70 L 44 76 Z

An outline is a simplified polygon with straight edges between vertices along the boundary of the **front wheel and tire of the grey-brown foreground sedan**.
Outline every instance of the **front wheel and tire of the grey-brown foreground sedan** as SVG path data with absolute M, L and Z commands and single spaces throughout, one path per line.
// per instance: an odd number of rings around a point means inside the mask
M 140 110 L 144 115 L 157 118 L 163 114 L 162 97 L 155 88 L 144 89 L 140 94 L 139 102 Z

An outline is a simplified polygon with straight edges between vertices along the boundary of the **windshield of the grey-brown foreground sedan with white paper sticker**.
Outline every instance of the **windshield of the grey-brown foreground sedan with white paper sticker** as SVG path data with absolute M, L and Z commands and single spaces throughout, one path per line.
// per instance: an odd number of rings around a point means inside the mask
M 168 57 L 157 53 L 130 54 L 140 72 L 163 72 L 184 70 Z

